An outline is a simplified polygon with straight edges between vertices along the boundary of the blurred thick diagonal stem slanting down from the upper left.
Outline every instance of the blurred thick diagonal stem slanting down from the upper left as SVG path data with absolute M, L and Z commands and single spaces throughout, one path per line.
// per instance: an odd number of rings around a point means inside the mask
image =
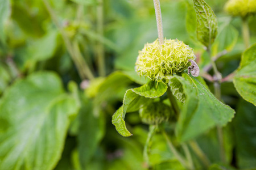
M 55 12 L 51 8 L 51 6 L 47 2 L 47 0 L 42 0 L 42 1 L 43 1 L 44 5 L 46 6 L 47 11 L 49 12 L 49 15 L 51 16 L 51 19 L 52 19 L 53 23 L 56 25 L 57 29 L 59 29 L 59 31 L 60 31 L 60 34 L 61 34 L 61 36 L 64 40 L 64 43 L 65 43 L 65 46 L 67 47 L 68 53 L 70 54 L 73 62 L 75 63 L 75 65 L 77 67 L 80 78 L 85 79 L 87 77 L 89 79 L 93 79 L 94 76 L 92 74 L 92 71 L 86 65 L 86 62 L 84 61 L 84 58 L 82 56 L 76 56 L 75 50 L 73 49 L 73 46 L 72 46 L 72 43 L 69 40 L 68 36 L 66 35 L 65 31 L 63 30 L 63 28 L 61 27 L 61 25 L 59 24 L 59 22 L 57 20 L 57 16 L 55 15 Z M 80 61 L 83 61 L 84 65 L 81 65 Z

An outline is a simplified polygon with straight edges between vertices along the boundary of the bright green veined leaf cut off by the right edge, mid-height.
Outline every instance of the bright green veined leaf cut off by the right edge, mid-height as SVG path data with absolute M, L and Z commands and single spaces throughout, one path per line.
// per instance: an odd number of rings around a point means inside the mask
M 256 44 L 242 54 L 240 68 L 233 82 L 238 93 L 250 103 L 256 105 Z

